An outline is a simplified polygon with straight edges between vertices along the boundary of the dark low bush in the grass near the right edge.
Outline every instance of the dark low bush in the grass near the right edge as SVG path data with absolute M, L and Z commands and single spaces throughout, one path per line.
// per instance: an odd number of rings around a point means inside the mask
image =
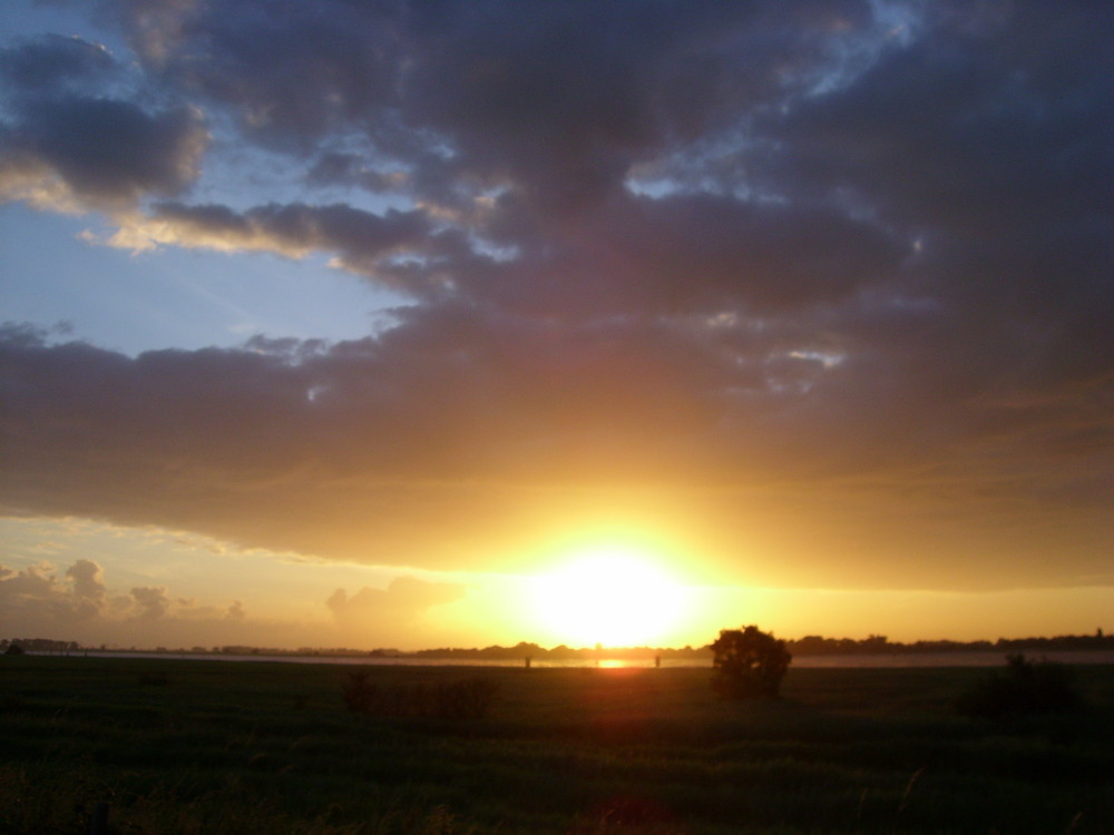
M 1079 704 L 1072 671 L 1053 661 L 1006 656 L 1005 672 L 991 672 L 956 701 L 962 716 L 993 719 L 1008 714 L 1048 714 Z

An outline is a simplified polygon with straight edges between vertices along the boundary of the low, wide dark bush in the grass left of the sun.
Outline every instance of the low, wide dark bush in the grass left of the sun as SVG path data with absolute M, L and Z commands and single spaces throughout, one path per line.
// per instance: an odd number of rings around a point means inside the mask
M 482 719 L 495 701 L 499 686 L 488 678 L 441 684 L 382 686 L 370 670 L 352 670 L 341 685 L 349 710 L 394 718 Z

